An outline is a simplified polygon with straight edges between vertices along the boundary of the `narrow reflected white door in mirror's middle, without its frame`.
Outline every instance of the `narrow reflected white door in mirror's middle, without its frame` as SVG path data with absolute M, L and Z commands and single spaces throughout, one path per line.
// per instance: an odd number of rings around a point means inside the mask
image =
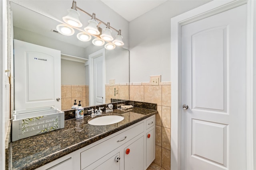
M 103 57 L 94 58 L 94 105 L 103 104 Z

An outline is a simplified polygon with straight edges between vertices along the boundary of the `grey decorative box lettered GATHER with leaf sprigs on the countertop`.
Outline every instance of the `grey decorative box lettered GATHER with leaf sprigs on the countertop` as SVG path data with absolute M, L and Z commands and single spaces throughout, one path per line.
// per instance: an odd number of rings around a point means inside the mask
M 12 141 L 64 128 L 64 112 L 54 107 L 15 110 Z

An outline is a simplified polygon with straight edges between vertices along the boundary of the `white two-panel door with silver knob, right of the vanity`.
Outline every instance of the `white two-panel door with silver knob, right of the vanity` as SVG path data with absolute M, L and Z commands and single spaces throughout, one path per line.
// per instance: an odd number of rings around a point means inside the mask
M 181 169 L 246 170 L 246 4 L 183 25 L 181 66 Z

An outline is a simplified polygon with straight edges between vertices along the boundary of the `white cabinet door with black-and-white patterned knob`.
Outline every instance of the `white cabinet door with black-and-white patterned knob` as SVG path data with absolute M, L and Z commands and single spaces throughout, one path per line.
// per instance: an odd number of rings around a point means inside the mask
M 120 153 L 110 152 L 83 170 L 120 170 Z

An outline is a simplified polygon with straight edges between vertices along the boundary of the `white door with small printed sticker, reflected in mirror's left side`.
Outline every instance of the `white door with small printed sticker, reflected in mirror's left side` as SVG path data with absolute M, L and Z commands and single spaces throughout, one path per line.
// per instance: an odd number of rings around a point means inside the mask
M 61 109 L 60 51 L 14 40 L 14 109 Z

